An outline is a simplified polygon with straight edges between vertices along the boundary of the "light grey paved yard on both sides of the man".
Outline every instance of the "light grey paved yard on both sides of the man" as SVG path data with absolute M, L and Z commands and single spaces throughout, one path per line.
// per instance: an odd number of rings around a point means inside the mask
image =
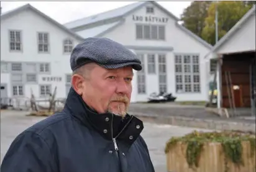
M 36 122 L 45 117 L 26 117 L 22 111 L 1 111 L 1 161 L 5 155 L 12 140 Z M 155 166 L 156 172 L 165 172 L 165 142 L 172 136 L 179 136 L 191 132 L 191 128 L 176 127 L 172 125 L 159 125 L 149 122 L 144 122 L 145 129 L 142 136 L 145 138 L 149 147 L 150 156 Z M 199 129 L 203 130 L 203 129 Z

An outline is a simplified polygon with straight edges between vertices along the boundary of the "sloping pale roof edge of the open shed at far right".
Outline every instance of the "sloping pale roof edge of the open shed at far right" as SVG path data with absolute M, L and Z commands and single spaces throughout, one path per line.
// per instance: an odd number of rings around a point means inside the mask
M 237 30 L 240 29 L 240 27 L 244 26 L 244 23 L 247 22 L 247 20 L 249 20 L 250 16 L 255 15 L 255 5 L 252 6 L 252 8 L 244 14 L 244 16 L 231 28 L 231 30 L 229 30 L 229 32 L 227 32 L 227 34 L 225 34 L 220 40 L 219 42 L 217 42 L 214 47 L 212 48 L 211 52 L 209 52 L 204 58 L 208 57 L 208 55 L 210 53 L 214 53 L 216 52 L 216 50 L 218 48 L 221 47 L 221 45 L 223 45 L 223 43 L 225 43 L 230 37 L 232 37 L 232 35 L 234 35 Z

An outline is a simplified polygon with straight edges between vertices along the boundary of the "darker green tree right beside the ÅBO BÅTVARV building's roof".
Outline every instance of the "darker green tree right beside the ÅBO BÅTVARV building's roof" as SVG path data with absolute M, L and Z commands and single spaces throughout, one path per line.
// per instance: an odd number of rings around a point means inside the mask
M 212 1 L 193 1 L 181 14 L 183 26 L 194 34 L 201 36 L 204 28 L 204 19 L 208 15 L 208 7 Z

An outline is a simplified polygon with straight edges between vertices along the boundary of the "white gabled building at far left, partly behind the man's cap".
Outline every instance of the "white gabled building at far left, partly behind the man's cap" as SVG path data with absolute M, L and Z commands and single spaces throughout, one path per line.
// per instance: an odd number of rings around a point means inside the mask
M 70 52 L 83 38 L 30 5 L 1 15 L 1 98 L 57 97 L 70 88 Z

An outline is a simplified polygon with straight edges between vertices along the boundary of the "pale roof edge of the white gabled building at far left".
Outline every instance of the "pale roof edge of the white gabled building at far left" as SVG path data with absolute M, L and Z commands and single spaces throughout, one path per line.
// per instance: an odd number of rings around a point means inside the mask
M 52 24 L 56 25 L 60 29 L 64 30 L 68 34 L 73 35 L 73 37 L 78 38 L 78 40 L 81 40 L 81 41 L 84 40 L 83 37 L 81 37 L 80 35 L 76 34 L 75 32 L 72 32 L 70 29 L 68 29 L 65 26 L 63 26 L 62 24 L 58 23 L 56 20 L 53 20 L 52 18 L 50 18 L 46 14 L 43 14 L 42 12 L 40 12 L 38 9 L 35 9 L 35 7 L 31 6 L 30 4 L 25 4 L 24 6 L 21 6 L 21 7 L 18 7 L 16 9 L 13 9 L 11 11 L 7 11 L 7 12 L 2 13 L 1 14 L 1 20 L 2 19 L 6 19 L 7 17 L 10 17 L 10 16 L 14 16 L 17 13 L 25 11 L 25 10 L 28 10 L 28 9 L 36 12 L 37 14 L 39 14 L 39 16 L 42 16 L 43 18 L 47 19 L 49 22 L 51 22 Z

